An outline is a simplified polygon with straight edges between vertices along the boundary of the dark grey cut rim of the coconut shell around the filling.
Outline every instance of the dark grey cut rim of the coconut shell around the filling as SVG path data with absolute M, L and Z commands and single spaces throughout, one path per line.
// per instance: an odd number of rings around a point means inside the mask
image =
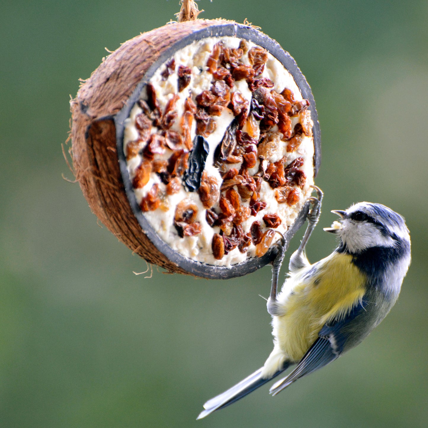
M 171 31 L 173 30 L 174 28 L 171 26 Z M 192 273 L 193 275 L 207 279 L 229 279 L 238 276 L 244 276 L 247 275 L 247 273 L 252 273 L 273 261 L 276 255 L 276 248 L 272 246 L 264 256 L 253 257 L 248 259 L 246 262 L 240 263 L 238 265 L 232 265 L 230 268 L 225 266 L 207 265 L 202 262 L 195 262 L 191 259 L 188 259 L 187 257 L 181 256 L 181 254 L 177 253 L 175 250 L 172 250 L 172 248 L 169 247 L 169 245 L 158 236 L 140 210 L 140 206 L 137 203 L 134 189 L 128 175 L 127 163 L 125 154 L 123 152 L 123 137 L 125 131 L 125 119 L 128 118 L 132 107 L 140 98 L 143 87 L 149 82 L 149 80 L 155 74 L 155 71 L 176 51 L 186 47 L 187 45 L 190 45 L 190 43 L 206 39 L 208 37 L 224 36 L 238 37 L 240 39 L 245 39 L 255 43 L 256 45 L 262 46 L 263 48 L 267 49 L 268 52 L 270 52 L 276 59 L 278 59 L 279 62 L 281 62 L 281 64 L 284 65 L 284 67 L 293 76 L 298 88 L 300 89 L 300 92 L 302 93 L 303 98 L 309 100 L 309 110 L 311 110 L 311 118 L 314 122 L 314 126 L 312 128 L 314 137 L 314 176 L 316 176 L 318 173 L 319 163 L 321 160 L 321 134 L 318 123 L 318 115 L 315 109 L 315 100 L 312 95 L 311 88 L 306 82 L 306 78 L 303 76 L 300 68 L 297 67 L 294 58 L 288 52 L 284 51 L 279 43 L 277 43 L 275 40 L 270 39 L 270 37 L 266 36 L 266 34 L 256 30 L 253 27 L 241 24 L 221 24 L 213 25 L 191 33 L 161 53 L 158 60 L 148 68 L 143 79 L 140 81 L 140 83 L 138 83 L 125 106 L 122 108 L 122 110 L 119 111 L 119 113 L 116 114 L 114 118 L 116 125 L 117 154 L 119 158 L 120 172 L 132 211 L 134 212 L 138 223 L 142 227 L 143 232 L 146 234 L 152 244 L 154 244 L 160 253 L 163 253 L 163 255 L 165 255 L 175 265 L 189 273 Z M 290 242 L 293 235 L 305 222 L 308 211 L 309 202 L 306 202 L 296 220 L 285 234 L 287 248 L 288 243 Z

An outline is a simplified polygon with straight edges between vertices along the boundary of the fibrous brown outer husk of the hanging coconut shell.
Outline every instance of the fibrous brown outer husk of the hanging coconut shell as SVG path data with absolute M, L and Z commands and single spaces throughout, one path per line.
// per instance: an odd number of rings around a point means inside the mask
M 70 101 L 74 173 L 89 207 L 119 241 L 169 272 L 191 274 L 155 248 L 131 210 L 119 169 L 113 116 L 163 51 L 194 31 L 231 22 L 185 21 L 140 34 L 107 56 Z

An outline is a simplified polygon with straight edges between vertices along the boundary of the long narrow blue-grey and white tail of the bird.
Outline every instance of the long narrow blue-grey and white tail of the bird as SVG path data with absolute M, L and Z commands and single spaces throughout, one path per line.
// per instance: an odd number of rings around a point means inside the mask
M 241 380 L 241 382 L 232 386 L 232 388 L 229 388 L 227 391 L 222 392 L 214 398 L 211 398 L 211 400 L 208 400 L 204 404 L 205 410 L 202 410 L 196 419 L 205 418 L 205 416 L 208 416 L 215 410 L 223 409 L 223 407 L 227 407 L 229 404 L 235 403 L 235 401 L 245 397 L 245 395 L 248 395 L 250 392 L 253 392 L 255 389 L 259 388 L 259 386 L 264 385 L 265 383 L 269 382 L 269 380 L 278 376 L 280 373 L 286 370 L 288 366 L 289 363 L 285 363 L 280 370 L 268 378 L 263 378 L 261 376 L 263 368 L 260 368 L 250 376 L 246 377 L 244 380 Z

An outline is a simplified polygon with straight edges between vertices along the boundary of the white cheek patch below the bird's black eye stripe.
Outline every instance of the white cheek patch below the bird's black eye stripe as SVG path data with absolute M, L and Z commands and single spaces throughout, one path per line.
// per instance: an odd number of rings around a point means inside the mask
M 342 242 L 351 253 L 359 253 L 371 247 L 393 247 L 395 241 L 384 236 L 373 223 L 343 221 Z

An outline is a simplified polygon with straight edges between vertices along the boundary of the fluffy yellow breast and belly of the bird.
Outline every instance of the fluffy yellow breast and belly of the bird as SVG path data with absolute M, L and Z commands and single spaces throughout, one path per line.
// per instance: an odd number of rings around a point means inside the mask
M 348 254 L 333 253 L 286 280 L 278 301 L 284 314 L 273 318 L 273 335 L 292 361 L 299 361 L 330 319 L 347 315 L 365 293 L 366 276 Z

